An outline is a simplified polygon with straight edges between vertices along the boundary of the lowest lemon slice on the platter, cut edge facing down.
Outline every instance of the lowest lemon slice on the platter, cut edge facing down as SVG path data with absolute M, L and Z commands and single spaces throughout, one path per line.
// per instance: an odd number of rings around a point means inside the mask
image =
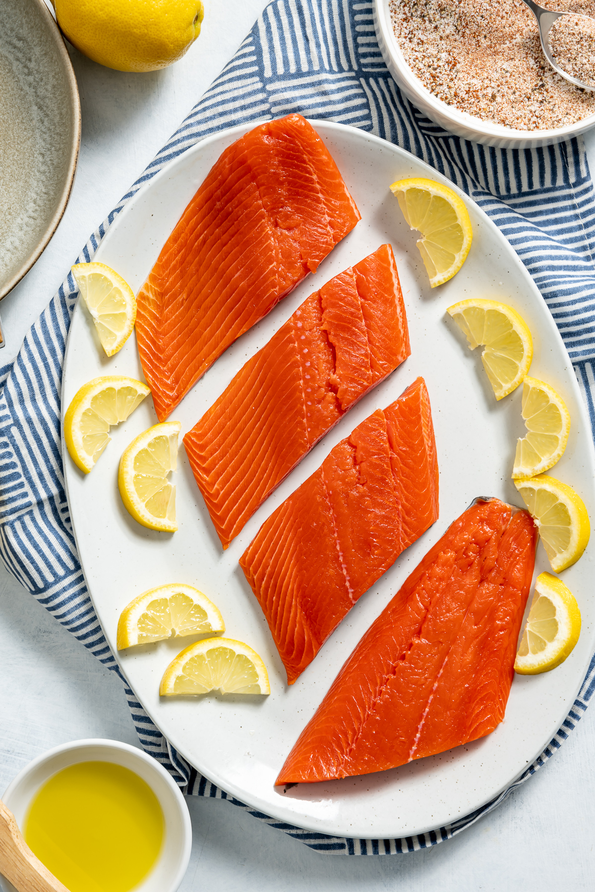
M 175 694 L 270 694 L 269 675 L 255 650 L 231 638 L 196 641 L 171 661 L 161 697 Z

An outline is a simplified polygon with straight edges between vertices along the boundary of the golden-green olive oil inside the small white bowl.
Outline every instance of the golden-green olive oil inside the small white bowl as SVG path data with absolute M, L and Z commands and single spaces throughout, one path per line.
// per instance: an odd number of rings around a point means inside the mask
M 153 868 L 163 834 L 145 780 L 112 762 L 80 762 L 37 791 L 23 835 L 70 892 L 129 892 Z

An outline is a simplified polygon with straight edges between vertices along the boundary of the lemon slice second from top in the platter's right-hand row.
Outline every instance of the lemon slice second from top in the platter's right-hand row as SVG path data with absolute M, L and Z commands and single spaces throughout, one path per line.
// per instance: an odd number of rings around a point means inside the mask
M 529 371 L 533 340 L 525 320 L 500 301 L 471 298 L 453 303 L 446 312 L 467 336 L 469 350 L 480 344 L 483 368 L 497 400 L 516 390 Z

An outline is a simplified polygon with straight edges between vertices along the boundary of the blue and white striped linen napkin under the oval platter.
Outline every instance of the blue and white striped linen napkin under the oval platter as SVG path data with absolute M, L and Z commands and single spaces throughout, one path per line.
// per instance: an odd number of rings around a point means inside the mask
M 158 170 L 204 136 L 299 111 L 361 128 L 417 155 L 471 195 L 507 236 L 556 320 L 595 429 L 595 201 L 582 139 L 525 151 L 451 136 L 401 95 L 378 50 L 371 3 L 274 0 L 234 58 L 120 204 L 91 235 L 91 260 L 113 219 Z M 171 747 L 120 672 L 90 602 L 64 492 L 62 361 L 77 289 L 71 274 L 0 371 L 0 555 L 4 566 L 124 683 L 147 753 L 189 795 L 225 798 L 319 852 L 384 855 L 434 846 L 500 805 L 552 756 L 586 709 L 595 657 L 566 721 L 514 784 L 474 814 L 401 839 L 328 837 L 278 822 L 215 787 Z

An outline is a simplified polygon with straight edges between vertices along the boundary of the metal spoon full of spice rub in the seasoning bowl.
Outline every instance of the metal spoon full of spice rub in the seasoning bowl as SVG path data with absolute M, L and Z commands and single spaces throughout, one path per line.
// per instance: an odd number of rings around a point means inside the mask
M 575 87 L 595 90 L 595 19 L 543 9 L 525 0 L 537 19 L 541 48 L 551 67 Z

